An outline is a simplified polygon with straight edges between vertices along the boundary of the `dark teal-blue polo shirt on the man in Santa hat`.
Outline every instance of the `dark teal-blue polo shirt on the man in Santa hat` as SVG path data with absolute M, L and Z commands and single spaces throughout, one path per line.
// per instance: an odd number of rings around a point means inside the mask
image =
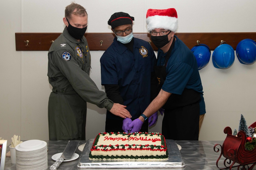
M 203 99 L 203 86 L 198 71 L 197 61 L 192 51 L 178 39 L 176 35 L 170 58 L 166 65 L 166 80 L 162 86 L 164 91 L 181 95 L 184 88 L 193 89 L 201 94 L 200 114 L 206 113 Z M 165 64 L 166 53 L 159 48 L 157 66 Z

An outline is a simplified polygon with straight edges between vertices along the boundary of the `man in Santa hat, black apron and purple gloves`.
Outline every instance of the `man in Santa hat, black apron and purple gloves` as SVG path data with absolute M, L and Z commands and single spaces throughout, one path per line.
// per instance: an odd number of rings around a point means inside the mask
M 198 140 L 199 115 L 206 113 L 203 87 L 196 58 L 192 51 L 174 35 L 178 16 L 174 8 L 148 9 L 147 29 L 158 47 L 155 79 L 151 83 L 153 101 L 144 111 L 154 123 L 157 110 L 165 109 L 162 134 L 166 139 Z M 140 116 L 127 125 L 131 132 L 139 132 L 145 118 Z

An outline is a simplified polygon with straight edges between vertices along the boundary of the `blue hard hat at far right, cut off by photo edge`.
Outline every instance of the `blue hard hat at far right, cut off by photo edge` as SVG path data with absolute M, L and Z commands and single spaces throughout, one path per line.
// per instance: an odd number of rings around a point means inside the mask
M 256 61 L 256 42 L 251 39 L 240 41 L 236 48 L 237 58 L 242 64 L 253 64 Z

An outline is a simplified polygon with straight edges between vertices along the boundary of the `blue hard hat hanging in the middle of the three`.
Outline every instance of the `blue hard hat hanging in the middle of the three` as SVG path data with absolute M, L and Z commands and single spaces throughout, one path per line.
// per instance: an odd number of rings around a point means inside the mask
M 212 53 L 212 63 L 215 68 L 227 69 L 235 60 L 234 49 L 228 44 L 221 44 Z

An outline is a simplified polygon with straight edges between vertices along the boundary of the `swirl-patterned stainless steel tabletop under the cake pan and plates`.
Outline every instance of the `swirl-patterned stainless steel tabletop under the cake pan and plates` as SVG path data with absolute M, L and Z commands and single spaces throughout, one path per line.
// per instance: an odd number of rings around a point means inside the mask
M 55 162 L 52 160 L 52 156 L 56 153 L 63 152 L 68 141 L 64 140 L 51 140 L 47 141 L 47 147 L 48 147 L 48 169 L 49 167 Z M 86 141 L 81 140 L 79 143 L 79 146 L 84 144 Z M 222 145 L 223 141 L 176 141 L 178 145 L 181 146 L 181 156 L 183 158 L 183 161 L 186 165 L 184 168 L 168 168 L 168 169 L 173 169 L 173 170 L 191 170 L 191 169 L 196 169 L 196 170 L 210 170 L 210 169 L 218 169 L 216 166 L 216 161 L 220 155 L 220 152 L 214 152 L 213 147 L 215 144 L 220 144 Z M 9 151 L 9 147 L 7 147 L 7 152 Z M 82 152 L 76 150 L 77 154 L 81 156 Z M 74 169 L 80 169 L 77 168 L 77 163 L 79 161 L 79 158 L 73 161 L 69 162 L 63 162 L 59 167 L 58 170 L 60 169 L 69 169 L 69 170 L 74 170 Z M 224 167 L 224 165 L 221 165 L 220 163 L 223 163 L 224 157 L 222 156 L 221 160 L 219 161 L 219 167 Z M 124 167 L 125 168 L 125 167 Z M 11 158 L 7 157 L 5 161 L 5 169 L 8 170 L 15 170 L 16 169 L 16 164 L 11 164 Z M 121 168 L 120 168 L 121 169 Z M 135 168 L 127 168 L 126 170 L 135 170 Z M 139 168 L 140 170 L 143 170 L 144 168 Z M 147 168 L 148 169 L 148 168 Z M 154 168 L 150 168 L 154 169 Z M 157 168 L 159 170 L 159 168 Z M 162 168 L 163 170 L 167 168 Z M 232 169 L 237 169 L 237 167 L 234 167 Z M 256 170 L 256 167 L 253 168 Z M 94 168 L 94 170 L 96 170 Z M 100 169 L 103 170 L 103 169 Z M 107 168 L 107 170 L 110 170 Z M 115 170 L 119 170 L 119 168 L 115 168 Z

